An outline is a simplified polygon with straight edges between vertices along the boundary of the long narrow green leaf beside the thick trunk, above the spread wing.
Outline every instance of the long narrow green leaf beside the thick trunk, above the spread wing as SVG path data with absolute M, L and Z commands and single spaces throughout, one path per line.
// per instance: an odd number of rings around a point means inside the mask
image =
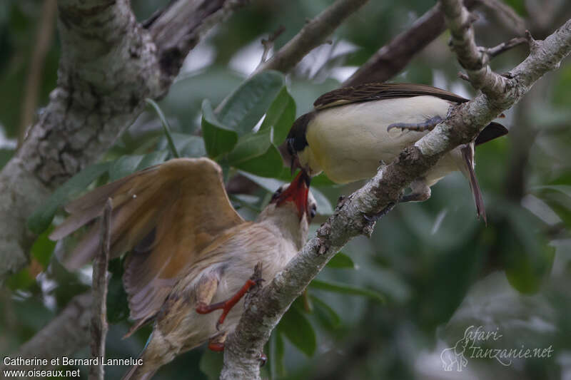
M 63 205 L 69 200 L 76 197 L 82 190 L 85 190 L 96 180 L 100 175 L 105 173 L 111 163 L 97 163 L 95 165 L 88 166 L 81 172 L 70 178 L 64 185 L 61 185 L 51 197 L 41 205 L 31 217 L 28 218 L 28 228 L 36 233 L 41 234 L 47 227 L 49 227 L 51 220 L 54 219 L 54 214 L 59 206 Z

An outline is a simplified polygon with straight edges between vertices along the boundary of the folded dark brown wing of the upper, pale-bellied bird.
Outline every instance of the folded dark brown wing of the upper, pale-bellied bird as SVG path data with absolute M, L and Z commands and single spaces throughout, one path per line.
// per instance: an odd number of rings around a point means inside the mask
M 416 83 L 365 83 L 355 87 L 342 87 L 323 94 L 313 106 L 316 110 L 341 106 L 348 103 L 375 101 L 388 98 L 406 98 L 409 96 L 431 95 L 456 103 L 468 99 L 433 86 Z

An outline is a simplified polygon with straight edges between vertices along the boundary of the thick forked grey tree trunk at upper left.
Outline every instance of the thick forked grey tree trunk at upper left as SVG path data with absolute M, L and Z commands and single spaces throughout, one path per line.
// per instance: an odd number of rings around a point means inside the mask
M 247 1 L 175 1 L 144 29 L 128 0 L 59 0 L 58 86 L 0 173 L 0 284 L 28 263 L 26 217 L 97 160 L 145 98 L 163 96 L 201 36 Z

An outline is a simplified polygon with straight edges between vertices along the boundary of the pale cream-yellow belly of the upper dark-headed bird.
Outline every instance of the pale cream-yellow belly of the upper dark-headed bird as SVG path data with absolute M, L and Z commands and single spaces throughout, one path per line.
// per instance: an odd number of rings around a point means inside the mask
M 380 161 L 390 163 L 408 145 L 427 132 L 387 131 L 392 123 L 422 123 L 439 115 L 445 118 L 450 103 L 433 96 L 368 101 L 319 111 L 308 125 L 309 163 L 335 183 L 371 178 Z M 455 160 L 444 157 L 427 174 L 438 180 L 458 170 Z M 315 170 L 318 171 L 318 170 Z

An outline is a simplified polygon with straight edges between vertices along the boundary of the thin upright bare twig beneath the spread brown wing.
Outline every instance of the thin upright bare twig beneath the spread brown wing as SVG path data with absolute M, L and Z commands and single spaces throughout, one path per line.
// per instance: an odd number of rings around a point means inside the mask
M 94 260 L 93 293 L 94 303 L 91 314 L 91 358 L 97 359 L 89 369 L 90 380 L 103 380 L 103 358 L 107 336 L 107 266 L 111 245 L 111 210 L 113 202 L 109 198 L 101 219 L 101 252 Z

